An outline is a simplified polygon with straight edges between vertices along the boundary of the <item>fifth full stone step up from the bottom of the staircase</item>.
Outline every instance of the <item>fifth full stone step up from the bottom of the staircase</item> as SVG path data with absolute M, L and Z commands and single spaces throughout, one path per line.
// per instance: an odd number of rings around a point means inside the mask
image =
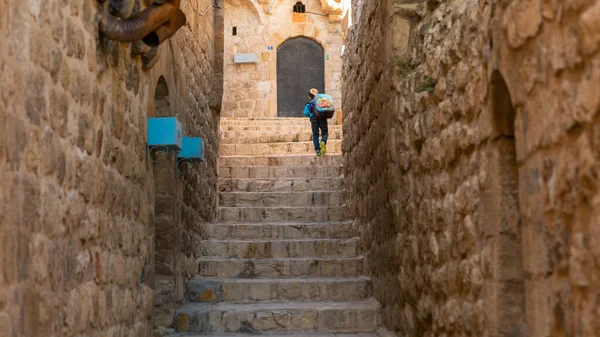
M 217 223 L 206 226 L 215 240 L 349 239 L 357 235 L 351 221 L 326 223 Z

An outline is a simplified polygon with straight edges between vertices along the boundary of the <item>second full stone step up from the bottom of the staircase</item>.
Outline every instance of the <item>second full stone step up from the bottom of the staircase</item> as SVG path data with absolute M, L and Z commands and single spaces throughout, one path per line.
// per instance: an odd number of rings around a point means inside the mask
M 194 278 L 186 301 L 254 303 L 259 301 L 356 301 L 372 297 L 368 277 L 228 279 Z

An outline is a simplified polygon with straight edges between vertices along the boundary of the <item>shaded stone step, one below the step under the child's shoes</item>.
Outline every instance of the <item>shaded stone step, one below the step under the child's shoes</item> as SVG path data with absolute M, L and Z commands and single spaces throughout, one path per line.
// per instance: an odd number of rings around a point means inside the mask
M 220 167 L 219 178 L 339 178 L 341 166 L 233 166 Z

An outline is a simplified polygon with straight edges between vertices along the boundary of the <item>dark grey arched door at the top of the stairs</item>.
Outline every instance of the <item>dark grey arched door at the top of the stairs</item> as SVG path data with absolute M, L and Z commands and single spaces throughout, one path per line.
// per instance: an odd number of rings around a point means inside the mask
M 325 90 L 325 50 L 296 37 L 277 49 L 277 116 L 302 117 L 310 88 Z

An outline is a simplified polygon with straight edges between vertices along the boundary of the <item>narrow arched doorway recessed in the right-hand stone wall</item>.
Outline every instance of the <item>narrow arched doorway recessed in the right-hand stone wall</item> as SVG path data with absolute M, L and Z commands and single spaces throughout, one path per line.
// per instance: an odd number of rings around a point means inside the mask
M 519 207 L 519 175 L 515 146 L 515 108 L 499 71 L 490 83 L 493 135 L 488 164 L 482 223 L 492 269 L 488 275 L 486 327 L 489 336 L 521 336 L 526 327 L 525 283 Z

